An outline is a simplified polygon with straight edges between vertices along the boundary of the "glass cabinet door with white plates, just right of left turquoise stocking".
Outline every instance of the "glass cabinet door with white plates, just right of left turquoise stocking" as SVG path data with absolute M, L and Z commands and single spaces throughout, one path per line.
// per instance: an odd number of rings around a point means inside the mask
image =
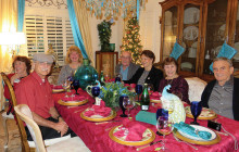
M 181 55 L 180 71 L 196 73 L 199 41 L 200 5 L 184 7 L 183 42 L 185 52 Z

